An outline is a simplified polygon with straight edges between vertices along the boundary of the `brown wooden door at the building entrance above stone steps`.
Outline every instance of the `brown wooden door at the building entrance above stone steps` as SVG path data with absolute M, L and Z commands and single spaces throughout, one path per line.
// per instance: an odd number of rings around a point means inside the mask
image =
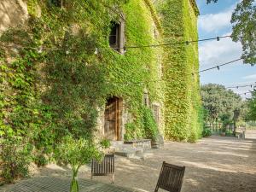
M 104 136 L 110 140 L 119 140 L 119 98 L 108 99 L 105 108 Z

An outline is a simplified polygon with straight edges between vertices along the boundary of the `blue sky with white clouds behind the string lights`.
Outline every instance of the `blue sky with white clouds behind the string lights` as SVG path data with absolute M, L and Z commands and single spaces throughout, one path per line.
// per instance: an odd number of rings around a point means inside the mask
M 218 0 L 218 3 L 207 4 L 207 0 L 196 0 L 201 15 L 198 20 L 199 38 L 214 38 L 230 35 L 232 26 L 230 19 L 236 8 L 237 0 Z M 230 38 L 222 38 L 220 41 L 212 40 L 199 44 L 200 68 L 218 66 L 219 64 L 233 61 L 241 57 L 240 43 L 234 43 Z M 256 66 L 243 64 L 236 61 L 230 65 L 200 73 L 201 84 L 223 84 L 226 87 L 237 85 L 256 85 Z M 251 87 L 232 89 L 243 98 L 251 95 L 243 93 L 253 90 Z

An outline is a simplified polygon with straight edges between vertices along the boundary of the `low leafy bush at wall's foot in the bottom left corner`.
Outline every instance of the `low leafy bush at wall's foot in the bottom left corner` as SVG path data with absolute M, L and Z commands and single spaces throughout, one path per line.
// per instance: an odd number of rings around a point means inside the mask
M 0 161 L 2 161 L 2 172 L 4 182 L 13 183 L 17 177 L 28 177 L 29 165 L 32 161 L 32 146 L 17 140 L 4 140 Z

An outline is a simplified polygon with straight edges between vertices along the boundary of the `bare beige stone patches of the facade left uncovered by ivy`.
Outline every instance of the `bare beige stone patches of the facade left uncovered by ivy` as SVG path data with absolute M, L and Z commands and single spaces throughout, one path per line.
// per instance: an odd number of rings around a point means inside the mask
M 143 2 L 144 0 L 142 0 Z M 162 0 L 164 1 L 164 0 Z M 192 22 L 196 22 L 196 17 L 198 15 L 198 9 L 195 4 L 195 0 L 188 0 L 189 5 L 191 6 L 189 9 L 191 9 L 190 13 Z M 145 2 L 147 2 L 145 0 Z M 156 23 L 156 20 L 154 17 L 154 13 L 148 7 L 147 3 L 141 3 L 142 6 L 145 7 L 145 9 L 148 9 L 147 14 L 150 15 L 148 20 L 148 23 L 151 25 L 151 29 L 148 32 L 152 38 L 154 38 L 155 42 L 160 42 L 161 38 L 161 32 L 160 32 L 160 26 L 159 23 Z M 160 3 L 158 0 L 152 0 L 152 3 Z M 26 7 L 26 1 L 25 0 L 1 0 L 0 2 L 0 34 L 1 32 L 4 32 L 6 29 L 8 29 L 10 26 L 18 26 L 18 25 L 26 25 L 26 19 L 28 18 L 27 13 L 27 7 Z M 125 13 L 123 13 L 122 18 L 124 20 L 120 20 L 120 44 L 119 44 L 119 52 L 121 54 L 125 54 L 125 31 L 129 31 L 132 29 L 127 28 L 125 26 Z M 190 39 L 189 39 L 190 40 Z M 197 50 L 195 50 L 197 52 Z M 158 49 L 155 51 L 155 56 L 157 58 L 157 61 L 155 62 L 155 68 L 158 71 L 158 77 L 157 79 L 163 79 L 163 50 Z M 164 86 L 163 86 L 164 87 Z M 161 87 L 160 89 L 163 89 Z M 159 90 L 160 90 L 159 89 Z M 155 90 L 155 91 L 159 91 Z M 119 98 L 119 101 L 117 105 L 115 106 L 115 110 L 118 111 L 118 124 L 119 124 L 119 131 L 116 133 L 117 137 L 114 138 L 114 140 L 124 140 L 125 135 L 125 124 L 129 123 L 133 120 L 133 117 L 131 113 L 128 112 L 128 102 L 126 102 L 123 98 L 116 96 Z M 159 127 L 160 133 L 163 135 L 165 130 L 165 105 L 164 105 L 164 96 L 161 96 L 162 98 L 157 101 L 150 101 L 148 97 L 148 90 L 145 87 L 144 88 L 144 95 L 142 98 L 142 102 L 144 105 L 148 106 L 152 109 L 152 112 L 154 113 L 155 121 Z M 113 103 L 111 104 L 113 107 Z M 110 106 L 111 106 L 110 105 Z M 98 108 L 99 111 L 99 118 L 98 118 L 98 125 L 97 125 L 97 131 L 96 131 L 96 137 L 105 137 L 106 136 L 106 107 Z

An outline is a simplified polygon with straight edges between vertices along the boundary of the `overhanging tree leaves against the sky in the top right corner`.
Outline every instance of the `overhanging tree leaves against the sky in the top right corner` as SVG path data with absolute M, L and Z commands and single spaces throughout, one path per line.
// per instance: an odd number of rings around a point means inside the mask
M 218 0 L 207 0 L 207 3 L 217 3 Z M 242 44 L 242 58 L 245 63 L 256 63 L 256 5 L 255 0 L 242 0 L 236 5 L 232 14 L 232 39 Z

